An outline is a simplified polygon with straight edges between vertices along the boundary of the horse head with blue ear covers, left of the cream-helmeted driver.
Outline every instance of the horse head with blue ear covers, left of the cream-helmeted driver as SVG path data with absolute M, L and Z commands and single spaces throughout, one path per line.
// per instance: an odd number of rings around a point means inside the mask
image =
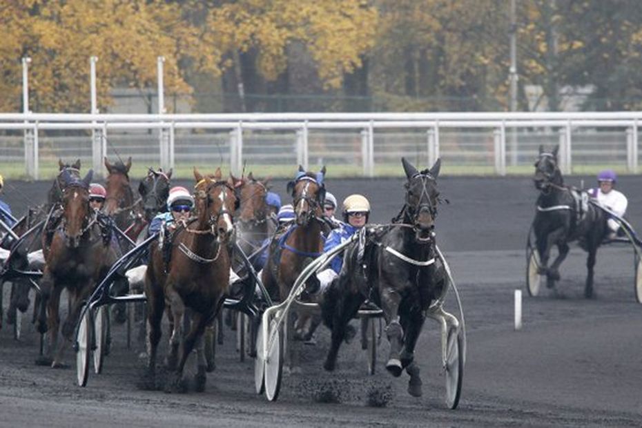
M 313 219 L 320 218 L 323 214 L 325 173 L 325 166 L 316 174 L 306 172 L 302 166 L 299 166 L 295 178 L 287 185 L 287 191 L 293 198 L 296 223 L 299 226 L 307 226 Z

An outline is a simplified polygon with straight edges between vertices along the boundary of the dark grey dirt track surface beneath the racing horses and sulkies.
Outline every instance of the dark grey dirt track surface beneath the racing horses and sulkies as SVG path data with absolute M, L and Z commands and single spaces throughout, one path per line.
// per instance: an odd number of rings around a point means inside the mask
M 569 181 L 579 184 L 580 178 Z M 585 177 L 585 182 L 592 179 Z M 629 196 L 628 216 L 638 231 L 641 183 L 641 177 L 623 177 L 619 183 Z M 28 201 L 42 201 L 48 188 L 43 183 L 12 185 L 3 199 L 19 214 Z M 327 187 L 338 200 L 353 192 L 367 195 L 372 222 L 389 221 L 402 200 L 398 179 L 329 178 Z M 284 182 L 275 182 L 274 189 L 284 197 Z M 284 378 L 278 402 L 255 394 L 253 360 L 238 361 L 234 333 L 227 328 L 206 391 L 177 395 L 137 389 L 143 346 L 126 349 L 124 326 L 113 327 L 112 353 L 103 373 L 91 373 L 88 386 L 80 388 L 71 353 L 71 369 L 33 364 L 38 337 L 25 321 L 21 342 L 12 339 L 6 323 L 0 331 L 0 425 L 639 426 L 642 307 L 634 299 L 632 250 L 599 250 L 597 298 L 585 300 L 585 254 L 574 247 L 561 269 L 561 295 L 544 290 L 541 297 L 525 297 L 524 327 L 514 331 L 513 291 L 525 290 L 524 245 L 536 197 L 532 182 L 445 177 L 440 189 L 451 204 L 440 207 L 438 243 L 454 272 L 468 331 L 463 396 L 456 411 L 443 402 L 438 326 L 431 321 L 416 352 L 422 398 L 406 393 L 405 375 L 385 373 L 385 338 L 376 376 L 367 376 L 366 356 L 356 340 L 342 347 L 337 371 L 324 372 L 328 335 L 322 329 L 317 346 L 302 350 L 302 373 Z M 164 332 L 163 342 L 167 338 Z M 322 393 L 340 403 L 319 402 Z M 369 396 L 382 398 L 387 406 L 369 406 Z

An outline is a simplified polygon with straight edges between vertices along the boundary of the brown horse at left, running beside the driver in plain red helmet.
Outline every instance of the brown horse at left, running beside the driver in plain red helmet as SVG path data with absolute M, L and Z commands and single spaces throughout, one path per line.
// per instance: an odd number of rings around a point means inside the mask
M 75 179 L 68 172 L 62 178 L 63 215 L 50 245 L 43 242 L 46 265 L 41 279 L 41 305 L 37 329 L 48 333 L 46 356 L 37 364 L 63 367 L 63 354 L 67 341 L 58 346 L 59 304 L 63 289 L 70 298 L 70 311 L 62 327 L 66 340 L 72 334 L 83 306 L 95 284 L 116 260 L 110 240 L 106 240 L 89 206 L 89 183 L 93 171 L 84 179 Z M 46 241 L 46 237 L 43 237 Z M 56 353 L 55 353 L 56 352 Z M 54 356 L 55 353 L 55 356 Z

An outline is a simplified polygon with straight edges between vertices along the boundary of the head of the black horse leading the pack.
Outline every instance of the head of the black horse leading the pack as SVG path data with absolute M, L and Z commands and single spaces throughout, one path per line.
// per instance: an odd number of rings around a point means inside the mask
M 408 181 L 405 184 L 405 222 L 415 230 L 417 242 L 429 243 L 434 237 L 439 191 L 437 177 L 441 167 L 441 159 L 430 169 L 418 171 L 405 158 L 401 158 Z

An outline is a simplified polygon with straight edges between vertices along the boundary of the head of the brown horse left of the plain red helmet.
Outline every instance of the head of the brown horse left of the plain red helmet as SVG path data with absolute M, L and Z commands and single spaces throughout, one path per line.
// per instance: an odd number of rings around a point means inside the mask
M 89 207 L 89 183 L 93 177 L 89 170 L 84 179 L 73 177 L 68 171 L 63 171 L 65 186 L 62 190 L 63 233 L 66 245 L 77 248 L 80 239 L 86 232 L 86 222 L 92 213 Z

